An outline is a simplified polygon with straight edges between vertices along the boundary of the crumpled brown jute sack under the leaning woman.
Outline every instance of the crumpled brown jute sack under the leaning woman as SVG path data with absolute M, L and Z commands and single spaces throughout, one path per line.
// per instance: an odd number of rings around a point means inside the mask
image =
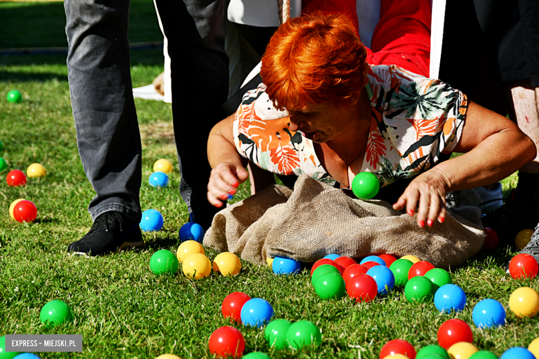
M 218 212 L 204 245 L 258 264 L 275 256 L 315 262 L 329 253 L 352 258 L 390 253 L 415 255 L 447 269 L 462 265 L 484 242 L 478 207 L 448 212 L 444 224 L 422 229 L 415 216 L 387 202 L 352 200 L 301 175 L 294 191 L 270 186 Z

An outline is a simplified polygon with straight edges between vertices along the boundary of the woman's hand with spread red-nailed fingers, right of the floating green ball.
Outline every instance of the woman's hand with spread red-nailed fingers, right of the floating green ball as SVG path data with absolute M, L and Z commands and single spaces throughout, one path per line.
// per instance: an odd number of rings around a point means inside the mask
M 393 209 L 400 211 L 406 207 L 408 215 L 414 215 L 417 209 L 417 224 L 420 227 L 433 226 L 434 221 L 444 223 L 446 218 L 446 180 L 435 173 L 427 171 L 415 177 L 399 197 Z

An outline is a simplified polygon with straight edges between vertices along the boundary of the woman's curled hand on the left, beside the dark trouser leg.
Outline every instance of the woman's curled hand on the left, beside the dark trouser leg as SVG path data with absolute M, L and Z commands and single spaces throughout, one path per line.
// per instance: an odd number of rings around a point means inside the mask
M 227 200 L 228 195 L 235 195 L 236 188 L 249 177 L 249 173 L 240 164 L 221 163 L 211 170 L 208 182 L 208 201 L 212 206 L 223 206 L 220 200 Z

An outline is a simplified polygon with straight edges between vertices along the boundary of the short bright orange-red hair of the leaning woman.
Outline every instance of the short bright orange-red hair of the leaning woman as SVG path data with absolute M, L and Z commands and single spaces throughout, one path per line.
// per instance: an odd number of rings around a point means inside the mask
M 279 110 L 331 101 L 347 104 L 367 83 L 367 51 L 342 14 L 286 21 L 262 57 L 261 76 Z

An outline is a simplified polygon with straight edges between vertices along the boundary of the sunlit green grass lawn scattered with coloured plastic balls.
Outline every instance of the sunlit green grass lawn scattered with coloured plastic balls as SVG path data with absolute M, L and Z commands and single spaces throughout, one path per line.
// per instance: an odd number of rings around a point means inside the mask
M 141 13 L 153 8 L 153 4 L 132 4 L 141 10 L 133 12 L 132 8 L 131 28 L 140 28 Z M 57 9 L 62 3 L 48 6 L 56 9 L 51 14 L 63 16 Z M 0 3 L 0 23 L 6 19 L 7 10 L 24 23 L 27 10 L 39 12 L 41 7 L 46 5 Z M 53 20 L 47 19 L 62 23 Z M 50 29 L 48 39 L 42 42 L 2 42 L 0 48 L 62 46 L 58 38 L 62 31 Z M 159 41 L 158 29 L 154 33 L 155 37 L 144 41 Z M 143 40 L 135 37 L 133 41 Z M 162 71 L 161 50 L 133 51 L 131 57 L 134 86 L 149 84 Z M 22 104 L 8 104 L 5 100 L 8 90 L 14 88 L 23 93 Z M 419 350 L 435 344 L 437 329 L 449 318 L 466 320 L 471 324 L 474 344 L 498 356 L 510 347 L 527 347 L 539 336 L 538 317 L 519 319 L 508 309 L 512 291 L 522 286 L 539 290 L 539 280 L 519 281 L 506 275 L 503 266 L 514 253 L 505 249 L 491 255 L 480 253 L 461 268 L 451 270 L 453 282 L 464 289 L 468 303 L 464 311 L 445 316 L 433 302 L 408 303 L 401 288 L 368 304 L 355 304 L 349 298 L 321 300 L 310 284 L 308 271 L 278 277 L 266 266 L 248 262 L 242 263 L 240 275 L 234 278 L 212 273 L 209 278 L 193 281 L 180 273 L 153 275 L 149 271 L 151 255 L 158 249 L 176 253 L 178 229 L 187 221 L 187 207 L 178 190 L 178 171 L 171 174 L 167 188 L 152 188 L 146 182 L 156 159 L 164 157 L 177 166 L 171 108 L 157 101 L 135 103 L 144 155 L 141 204 L 143 209 L 157 208 L 162 213 L 162 231 L 144 233 L 146 246 L 141 251 L 100 258 L 70 256 L 67 245 L 91 227 L 86 206 L 93 190 L 77 152 L 65 56 L 0 57 L 0 94 L 0 140 L 6 147 L 0 156 L 10 169 L 26 172 L 28 165 L 39 162 L 48 171 L 46 177 L 29 179 L 23 187 L 8 187 L 3 179 L 0 182 L 0 336 L 82 334 L 84 340 L 82 353 L 42 353 L 41 358 L 142 359 L 162 353 L 175 353 L 180 358 L 212 358 L 208 338 L 215 329 L 229 324 L 220 313 L 220 304 L 233 291 L 269 301 L 274 318 L 311 320 L 321 329 L 320 347 L 277 351 L 267 346 L 263 330 L 233 324 L 245 336 L 245 353 L 264 351 L 274 359 L 375 359 L 382 345 L 395 338 L 408 340 Z M 504 180 L 506 191 L 515 185 L 514 176 Z M 245 198 L 247 193 L 248 186 L 242 185 L 235 200 Z M 36 222 L 19 224 L 10 219 L 8 207 L 17 198 L 36 204 Z M 207 251 L 210 259 L 216 254 Z M 499 300 L 507 308 L 504 327 L 475 328 L 472 309 L 484 298 Z M 70 305 L 75 321 L 49 329 L 39 321 L 39 311 L 55 299 Z

